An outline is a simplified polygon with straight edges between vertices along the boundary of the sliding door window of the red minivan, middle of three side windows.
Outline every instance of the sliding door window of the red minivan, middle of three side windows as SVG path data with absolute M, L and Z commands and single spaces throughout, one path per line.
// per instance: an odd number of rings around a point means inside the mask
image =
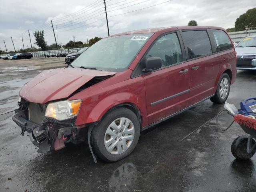
M 183 31 L 182 38 L 188 49 L 188 59 L 212 54 L 212 47 L 206 31 Z

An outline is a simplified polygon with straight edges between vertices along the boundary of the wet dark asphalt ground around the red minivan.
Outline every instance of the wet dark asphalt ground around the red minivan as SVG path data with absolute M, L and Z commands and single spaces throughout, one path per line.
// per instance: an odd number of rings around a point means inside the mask
M 220 131 L 214 117 L 223 105 L 210 100 L 142 132 L 134 152 L 118 162 L 95 164 L 87 144 L 38 154 L 10 119 L 20 87 L 38 73 L 0 76 L 0 192 L 256 191 L 256 156 L 240 162 L 230 151 L 244 132 L 237 124 Z M 256 71 L 238 71 L 228 102 L 239 107 L 255 88 Z

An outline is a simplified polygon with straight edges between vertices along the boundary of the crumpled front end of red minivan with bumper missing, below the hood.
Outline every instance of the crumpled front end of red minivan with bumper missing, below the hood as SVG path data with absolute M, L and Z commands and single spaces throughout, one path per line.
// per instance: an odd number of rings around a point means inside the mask
M 86 139 L 84 126 L 75 126 L 75 119 L 58 121 L 44 116 L 47 104 L 37 104 L 21 99 L 12 120 L 24 132 L 30 134 L 31 142 L 38 147 L 38 152 L 53 152 L 72 142 L 78 144 Z M 87 132 L 86 132 L 87 133 Z

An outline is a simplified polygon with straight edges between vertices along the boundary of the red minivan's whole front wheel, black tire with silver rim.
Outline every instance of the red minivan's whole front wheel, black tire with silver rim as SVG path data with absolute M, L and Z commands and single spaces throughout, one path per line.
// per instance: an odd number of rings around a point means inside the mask
M 140 137 L 140 123 L 134 112 L 116 108 L 92 130 L 91 143 L 104 161 L 114 162 L 128 156 Z

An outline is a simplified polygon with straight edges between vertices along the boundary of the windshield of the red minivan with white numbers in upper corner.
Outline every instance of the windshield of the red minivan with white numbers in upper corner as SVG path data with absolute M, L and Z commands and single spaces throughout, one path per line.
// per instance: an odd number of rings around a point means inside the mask
M 152 33 L 103 38 L 74 62 L 72 67 L 120 72 L 128 68 Z

